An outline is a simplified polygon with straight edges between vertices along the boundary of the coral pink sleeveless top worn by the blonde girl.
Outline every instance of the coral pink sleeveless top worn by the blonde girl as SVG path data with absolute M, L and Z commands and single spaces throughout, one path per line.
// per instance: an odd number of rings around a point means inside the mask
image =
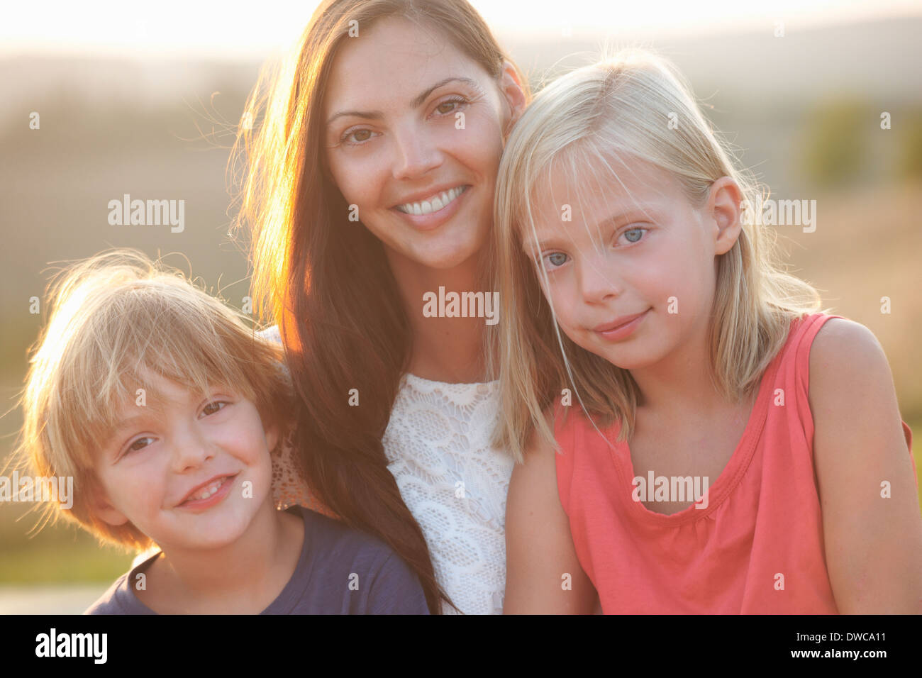
M 840 315 L 795 320 L 769 364 L 706 508 L 666 516 L 632 499 L 618 424 L 600 436 L 578 406 L 555 437 L 573 544 L 604 613 L 838 613 L 826 571 L 808 403 L 810 345 Z M 775 389 L 784 390 L 784 405 Z M 906 446 L 912 434 L 903 423 Z M 910 455 L 911 457 L 911 455 Z M 915 470 L 915 461 L 913 462 Z

